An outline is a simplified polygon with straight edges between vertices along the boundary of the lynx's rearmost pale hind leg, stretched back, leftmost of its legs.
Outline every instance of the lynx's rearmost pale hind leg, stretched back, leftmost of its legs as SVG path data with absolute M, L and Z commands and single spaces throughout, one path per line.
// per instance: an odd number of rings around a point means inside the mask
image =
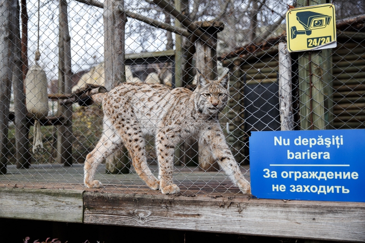
M 107 136 L 110 135 L 110 136 Z M 110 154 L 116 151 L 121 139 L 116 134 L 103 134 L 96 147 L 86 156 L 84 164 L 84 183 L 88 188 L 100 188 L 102 185 L 94 180 L 97 167 Z

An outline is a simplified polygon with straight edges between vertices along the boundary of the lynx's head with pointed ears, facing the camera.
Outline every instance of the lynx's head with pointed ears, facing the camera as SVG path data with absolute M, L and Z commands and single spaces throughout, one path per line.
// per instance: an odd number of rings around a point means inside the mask
M 213 115 L 223 110 L 228 100 L 228 74 L 218 80 L 209 80 L 199 74 L 194 92 L 195 108 L 200 113 Z

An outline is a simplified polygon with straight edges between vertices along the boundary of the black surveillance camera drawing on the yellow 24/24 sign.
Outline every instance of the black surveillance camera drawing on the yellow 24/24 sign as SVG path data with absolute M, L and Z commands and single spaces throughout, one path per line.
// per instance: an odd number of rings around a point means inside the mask
M 297 30 L 296 26 L 290 28 L 291 39 L 297 37 L 297 34 L 311 35 L 312 30 L 325 28 L 330 24 L 331 16 L 319 14 L 312 11 L 297 13 L 297 20 L 303 25 L 304 30 Z

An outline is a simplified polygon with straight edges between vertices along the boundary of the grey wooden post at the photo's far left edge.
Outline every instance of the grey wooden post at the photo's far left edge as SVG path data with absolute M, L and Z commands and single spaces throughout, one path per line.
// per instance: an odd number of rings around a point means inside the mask
M 0 0 L 0 174 L 7 173 L 7 144 L 13 68 L 15 0 Z

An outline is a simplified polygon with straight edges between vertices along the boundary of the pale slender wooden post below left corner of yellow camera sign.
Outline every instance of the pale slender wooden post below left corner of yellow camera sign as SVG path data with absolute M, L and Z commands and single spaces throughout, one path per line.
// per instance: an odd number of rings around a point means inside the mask
M 279 111 L 281 131 L 294 129 L 293 99 L 291 97 L 291 57 L 286 43 L 279 43 Z

